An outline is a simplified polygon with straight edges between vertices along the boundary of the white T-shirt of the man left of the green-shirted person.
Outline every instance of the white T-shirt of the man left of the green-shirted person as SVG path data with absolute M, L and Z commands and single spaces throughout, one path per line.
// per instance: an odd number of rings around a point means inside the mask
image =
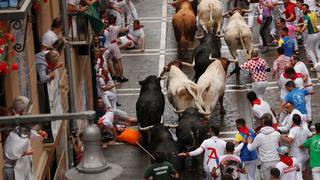
M 300 149 L 299 146 L 312 136 L 312 133 L 306 127 L 294 126 L 289 131 L 289 138 L 293 139 L 293 142 L 290 144 L 290 156 L 299 158 L 300 156 L 308 156 L 307 149 Z

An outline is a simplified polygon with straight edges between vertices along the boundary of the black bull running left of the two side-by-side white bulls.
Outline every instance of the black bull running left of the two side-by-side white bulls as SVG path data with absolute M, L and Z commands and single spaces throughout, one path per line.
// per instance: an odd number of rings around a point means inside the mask
M 136 103 L 136 112 L 145 145 L 149 143 L 149 136 L 146 131 L 152 128 L 154 124 L 161 122 L 164 112 L 165 99 L 161 91 L 160 80 L 157 76 L 150 75 L 145 80 L 139 81 L 141 89 Z

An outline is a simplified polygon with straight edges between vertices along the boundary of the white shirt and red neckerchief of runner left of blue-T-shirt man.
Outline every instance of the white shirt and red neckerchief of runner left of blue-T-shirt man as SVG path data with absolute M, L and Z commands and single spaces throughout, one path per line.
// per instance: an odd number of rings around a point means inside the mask
M 262 126 L 263 122 L 261 121 L 261 117 L 266 113 L 271 114 L 272 123 L 277 124 L 277 119 L 274 117 L 270 105 L 262 99 L 256 99 L 252 102 L 252 112 L 255 119 L 255 128 Z

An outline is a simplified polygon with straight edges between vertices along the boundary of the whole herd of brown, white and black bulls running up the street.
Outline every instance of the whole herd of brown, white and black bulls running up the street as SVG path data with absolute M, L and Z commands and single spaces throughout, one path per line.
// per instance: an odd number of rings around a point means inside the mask
M 170 4 L 176 8 L 172 24 L 178 52 L 181 52 L 195 38 L 196 16 L 189 0 L 176 0 Z M 250 56 L 253 49 L 251 30 L 242 17 L 248 10 L 236 8 L 223 13 L 220 0 L 201 0 L 198 6 L 199 24 L 204 35 L 198 37 L 200 45 L 193 52 L 192 64 L 174 60 L 164 67 L 160 77 L 150 75 L 139 81 L 141 90 L 136 103 L 143 144 L 151 153 L 166 152 L 167 160 L 178 170 L 182 170 L 184 161 L 176 154 L 197 148 L 208 136 L 208 127 L 202 117 L 208 119 L 218 101 L 220 113 L 225 113 L 223 95 L 226 75 L 230 62 L 237 63 L 236 50 L 246 50 L 247 56 Z M 230 16 L 229 22 L 222 30 L 226 16 Z M 224 37 L 235 60 L 221 57 L 221 37 Z M 181 70 L 184 65 L 193 67 L 193 81 Z M 161 124 L 165 106 L 160 83 L 163 79 L 167 79 L 168 100 L 179 114 L 177 142 Z

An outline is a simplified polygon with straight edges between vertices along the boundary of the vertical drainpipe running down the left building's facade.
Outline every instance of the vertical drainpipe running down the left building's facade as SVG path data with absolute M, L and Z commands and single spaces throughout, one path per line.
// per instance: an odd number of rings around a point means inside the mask
M 68 12 L 67 12 L 67 1 L 66 0 L 59 0 L 60 5 L 60 16 L 63 21 L 63 34 L 65 37 L 69 35 L 69 26 L 68 26 Z M 74 98 L 74 89 L 73 89 L 73 77 L 72 77 L 72 67 L 71 67 L 71 52 L 70 52 L 70 44 L 67 43 L 64 49 L 64 59 L 65 59 L 65 66 L 67 69 L 68 74 L 68 106 L 70 113 L 76 112 L 76 105 L 75 105 L 75 98 Z M 69 121 L 69 133 L 75 135 L 77 133 L 77 126 L 75 120 Z M 68 143 L 68 154 L 69 154 L 69 166 L 73 166 L 74 158 L 73 158 L 73 148 Z

